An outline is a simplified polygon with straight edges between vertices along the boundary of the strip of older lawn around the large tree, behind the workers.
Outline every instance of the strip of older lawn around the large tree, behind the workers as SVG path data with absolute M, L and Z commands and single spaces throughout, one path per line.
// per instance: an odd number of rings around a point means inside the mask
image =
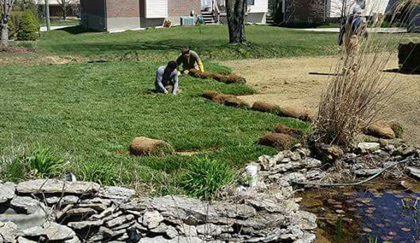
M 203 26 L 202 34 L 199 27 L 115 34 L 83 32 L 80 27 L 72 27 L 43 34 L 36 46 L 47 53 L 81 55 L 93 60 L 121 60 L 128 54 L 159 62 L 174 59 L 183 46 L 196 50 L 205 60 L 333 55 L 338 50 L 337 34 L 267 26 L 248 26 L 246 34 L 249 46 L 232 46 L 226 26 Z

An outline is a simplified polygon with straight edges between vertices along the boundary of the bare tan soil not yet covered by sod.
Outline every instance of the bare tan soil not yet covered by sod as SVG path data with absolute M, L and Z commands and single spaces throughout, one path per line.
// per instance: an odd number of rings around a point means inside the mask
M 398 68 L 398 59 L 387 69 Z M 242 96 L 245 102 L 256 101 L 278 106 L 299 106 L 316 113 L 320 95 L 334 73 L 337 57 L 306 57 L 293 59 L 236 60 L 224 62 L 233 72 L 244 76 L 247 84 L 259 94 Z M 267 71 L 270 70 L 270 71 Z M 404 139 L 420 145 L 420 75 L 384 72 L 384 78 L 401 89 L 385 107 L 381 117 L 396 120 L 405 129 Z

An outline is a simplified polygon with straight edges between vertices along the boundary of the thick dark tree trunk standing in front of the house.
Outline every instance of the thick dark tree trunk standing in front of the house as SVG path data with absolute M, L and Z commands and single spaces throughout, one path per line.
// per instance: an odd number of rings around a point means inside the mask
M 245 11 L 247 0 L 226 0 L 229 43 L 246 43 Z

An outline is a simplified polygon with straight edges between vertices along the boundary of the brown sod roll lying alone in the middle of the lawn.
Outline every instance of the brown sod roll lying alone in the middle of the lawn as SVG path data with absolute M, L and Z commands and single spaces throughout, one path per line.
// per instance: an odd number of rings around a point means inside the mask
M 136 137 L 131 141 L 130 153 L 137 156 L 159 156 L 172 155 L 174 148 L 165 141 L 150 139 L 148 137 Z

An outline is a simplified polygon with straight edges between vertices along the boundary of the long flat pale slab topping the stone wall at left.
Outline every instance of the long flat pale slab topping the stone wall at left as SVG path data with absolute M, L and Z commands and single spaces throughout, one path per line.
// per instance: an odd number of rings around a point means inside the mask
M 78 195 L 89 195 L 96 193 L 100 185 L 93 182 L 83 181 L 58 181 L 58 180 L 33 180 L 19 183 L 16 190 L 18 193 L 69 193 Z

